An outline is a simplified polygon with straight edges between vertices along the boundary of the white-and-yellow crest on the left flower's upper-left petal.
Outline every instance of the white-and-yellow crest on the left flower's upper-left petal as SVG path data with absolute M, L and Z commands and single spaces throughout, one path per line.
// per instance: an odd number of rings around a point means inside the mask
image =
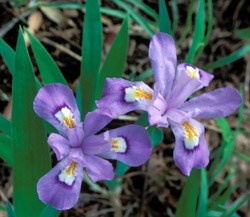
M 67 128 L 75 127 L 75 120 L 74 120 L 73 113 L 67 107 L 63 107 L 61 110 L 59 110 L 55 114 L 55 117 L 62 124 L 64 124 Z

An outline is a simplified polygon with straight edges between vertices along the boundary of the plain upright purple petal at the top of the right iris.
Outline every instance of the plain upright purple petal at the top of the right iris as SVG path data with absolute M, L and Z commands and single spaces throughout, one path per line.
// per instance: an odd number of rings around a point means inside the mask
M 170 35 L 157 33 L 149 45 L 149 58 L 154 72 L 155 82 L 158 83 L 164 98 L 169 95 L 176 70 L 175 42 Z

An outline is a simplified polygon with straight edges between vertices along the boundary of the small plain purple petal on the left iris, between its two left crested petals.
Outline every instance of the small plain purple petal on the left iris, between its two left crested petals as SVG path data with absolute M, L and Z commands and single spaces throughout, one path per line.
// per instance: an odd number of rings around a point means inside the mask
M 48 144 L 55 152 L 57 160 L 63 159 L 70 152 L 69 141 L 59 134 L 51 133 L 48 138 Z

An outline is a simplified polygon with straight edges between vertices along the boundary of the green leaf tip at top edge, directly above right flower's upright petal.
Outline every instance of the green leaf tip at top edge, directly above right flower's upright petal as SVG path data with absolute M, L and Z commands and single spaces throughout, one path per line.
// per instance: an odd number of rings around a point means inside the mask
M 171 22 L 165 0 L 159 0 L 159 13 L 160 32 L 165 32 L 172 35 Z

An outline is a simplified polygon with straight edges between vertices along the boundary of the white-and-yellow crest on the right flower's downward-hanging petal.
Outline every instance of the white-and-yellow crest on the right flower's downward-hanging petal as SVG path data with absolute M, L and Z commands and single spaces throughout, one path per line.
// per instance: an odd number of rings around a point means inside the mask
M 199 132 L 191 125 L 190 122 L 186 121 L 182 123 L 184 131 L 184 142 L 187 149 L 193 149 L 199 144 Z

